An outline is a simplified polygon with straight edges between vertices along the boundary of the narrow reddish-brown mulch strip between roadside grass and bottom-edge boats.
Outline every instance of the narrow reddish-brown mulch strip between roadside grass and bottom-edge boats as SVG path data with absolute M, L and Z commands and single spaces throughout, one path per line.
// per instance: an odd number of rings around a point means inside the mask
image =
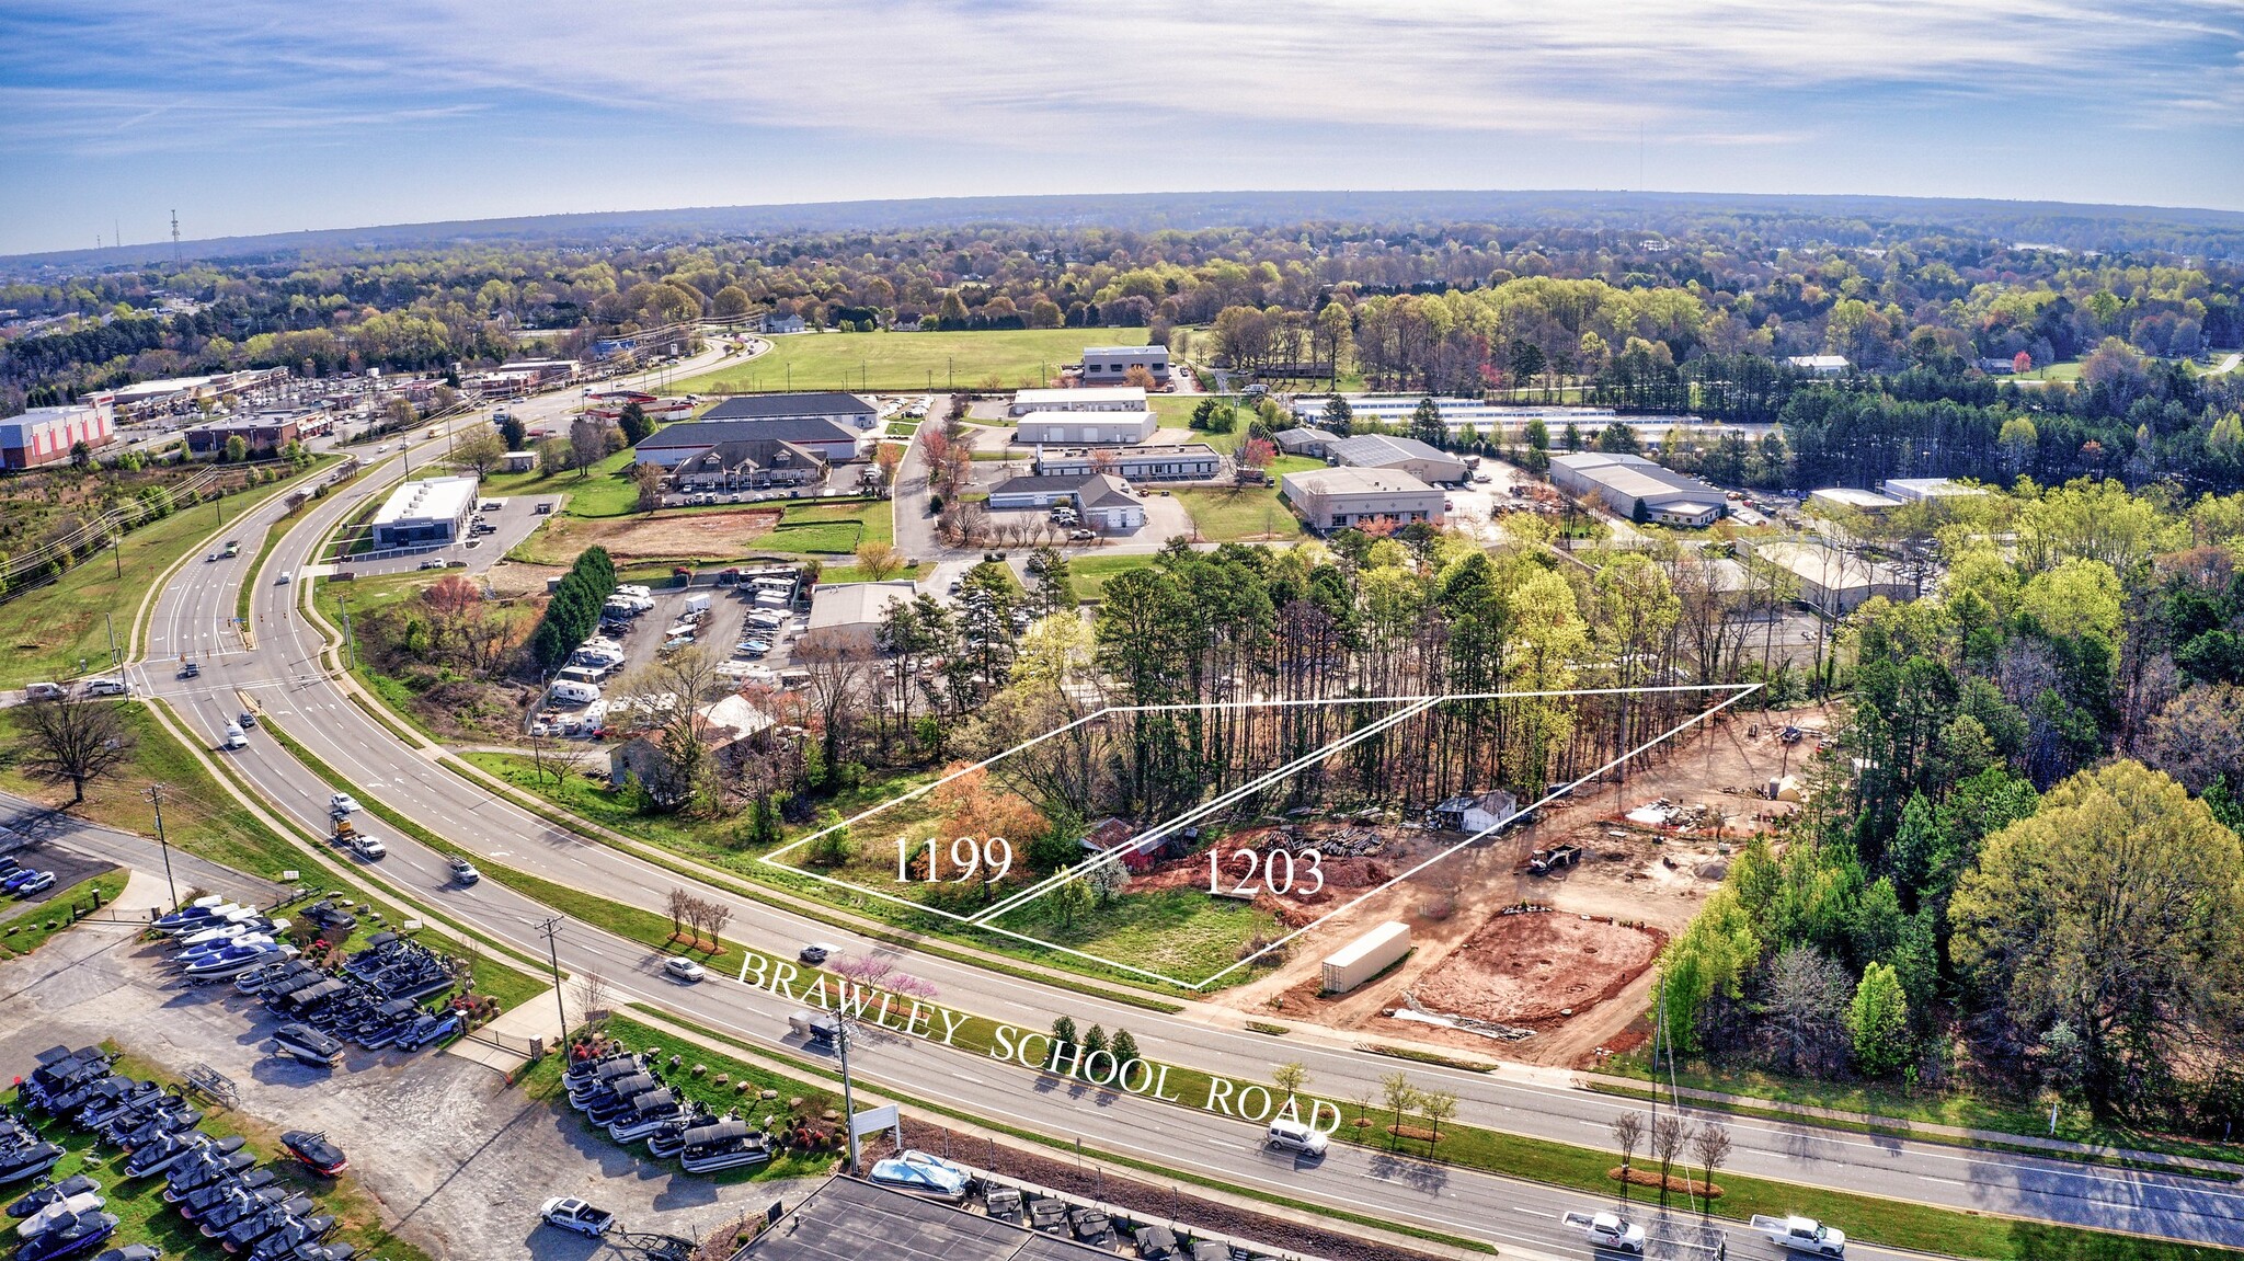
M 936 1156 L 951 1153 L 963 1165 L 990 1169 L 999 1178 L 1019 1178 L 1055 1191 L 1068 1191 L 1070 1196 L 1095 1198 L 1109 1205 L 1115 1214 L 1129 1214 L 1140 1223 L 1178 1223 L 1201 1232 L 1252 1239 L 1275 1252 L 1306 1252 L 1331 1261 L 1429 1261 L 1425 1252 L 1405 1252 L 1400 1248 L 1364 1243 L 1362 1239 L 1346 1234 L 1346 1225 L 1340 1225 L 1337 1230 L 1295 1225 L 1290 1221 L 1259 1216 L 1232 1205 L 1218 1205 L 1214 1200 L 1178 1194 L 1178 1189 L 1169 1185 L 1138 1182 L 1120 1169 L 1102 1167 L 1093 1171 L 1091 1165 L 1077 1167 L 1075 1160 L 1068 1158 L 1037 1156 L 1017 1147 L 992 1149 L 987 1138 L 956 1133 L 913 1117 L 904 1117 L 904 1144 Z M 891 1142 L 875 1138 L 862 1144 L 859 1151 L 859 1160 L 871 1167 L 873 1160 L 889 1156 Z

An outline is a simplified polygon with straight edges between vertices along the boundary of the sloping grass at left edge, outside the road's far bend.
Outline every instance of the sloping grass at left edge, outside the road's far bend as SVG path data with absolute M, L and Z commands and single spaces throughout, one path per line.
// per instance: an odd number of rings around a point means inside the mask
M 307 485 L 303 473 L 227 496 L 215 507 L 197 503 L 126 534 L 119 556 L 94 556 L 63 574 L 61 581 L 0 604 L 0 687 L 74 678 L 79 662 L 85 662 L 88 671 L 103 669 L 110 660 L 103 613 L 114 617 L 117 646 L 128 651 L 141 597 L 173 561 L 220 525 L 240 521 L 267 496 L 285 494 L 298 485 Z M 256 547 L 258 541 L 245 536 L 245 545 Z M 117 572 L 119 559 L 123 577 Z

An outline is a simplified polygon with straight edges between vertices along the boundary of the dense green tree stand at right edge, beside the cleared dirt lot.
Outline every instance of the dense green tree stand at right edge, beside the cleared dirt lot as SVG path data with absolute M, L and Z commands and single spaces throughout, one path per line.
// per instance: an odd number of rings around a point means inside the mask
M 1851 722 L 1670 947 L 1674 1041 L 2233 1133 L 2244 496 L 1986 507 L 1937 597 L 1849 619 Z

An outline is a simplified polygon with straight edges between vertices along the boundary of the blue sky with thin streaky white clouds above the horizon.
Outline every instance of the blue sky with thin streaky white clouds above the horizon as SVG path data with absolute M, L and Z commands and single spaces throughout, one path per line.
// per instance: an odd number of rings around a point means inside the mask
M 173 206 L 188 238 L 1169 188 L 2244 209 L 2244 0 L 11 0 L 0 182 L 0 254 Z

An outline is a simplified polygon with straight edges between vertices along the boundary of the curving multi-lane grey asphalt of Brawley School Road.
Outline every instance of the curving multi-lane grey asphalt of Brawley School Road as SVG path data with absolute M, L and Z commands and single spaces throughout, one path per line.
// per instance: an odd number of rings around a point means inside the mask
M 512 404 L 532 424 L 563 415 L 574 395 Z M 265 539 L 265 527 L 280 516 L 272 503 L 240 523 L 242 556 L 209 563 L 200 554 L 159 592 L 148 624 L 146 666 L 135 671 L 135 691 L 162 696 L 191 725 L 193 734 L 215 747 L 224 725 L 254 696 L 289 736 L 312 754 L 350 776 L 352 788 L 411 817 L 453 844 L 545 880 L 588 889 L 615 902 L 628 902 L 655 913 L 664 909 L 666 891 L 682 877 L 626 850 L 601 846 L 545 823 L 476 783 L 444 770 L 440 754 L 406 745 L 384 725 L 348 700 L 343 687 L 321 666 L 323 642 L 294 608 L 298 583 L 276 586 L 280 570 L 303 572 L 319 539 L 368 494 L 381 494 L 395 476 L 395 458 L 341 494 L 319 500 L 276 547 L 265 577 L 247 572 Z M 256 581 L 251 592 L 254 648 L 227 626 L 242 581 Z M 202 678 L 175 680 L 171 662 L 193 653 Z M 229 756 L 236 770 L 276 810 L 301 821 L 314 835 L 328 830 L 330 785 L 296 763 L 272 738 L 251 736 L 247 749 Z M 395 837 L 373 823 L 388 844 L 381 875 L 424 904 L 505 940 L 527 954 L 543 954 L 545 940 L 530 924 L 548 911 L 485 880 L 473 889 L 453 889 L 442 855 Z M 79 844 L 101 846 L 99 832 Z M 123 844 L 123 841 L 114 841 Z M 339 862 L 352 862 L 337 855 Z M 891 951 L 866 938 L 855 938 L 826 922 L 788 913 L 705 889 L 734 911 L 729 936 L 761 949 L 792 956 L 799 942 L 833 940 L 848 951 Z M 610 985 L 635 998 L 675 1010 L 711 1028 L 738 1037 L 776 1043 L 785 1032 L 785 1014 L 794 1007 L 783 998 L 745 985 L 711 978 L 698 987 L 669 985 L 655 976 L 660 956 L 635 942 L 608 936 L 588 924 L 570 924 L 561 938 L 563 967 L 599 969 Z M 1328 1097 L 1351 1097 L 1376 1090 L 1376 1081 L 1396 1070 L 1394 1061 L 1310 1041 L 1272 1041 L 1263 1034 L 1214 1028 L 1196 1012 L 1165 1016 L 1158 1012 L 1106 1003 L 1064 985 L 1021 981 L 936 956 L 909 954 L 902 965 L 934 983 L 938 1001 L 949 1007 L 1017 1023 L 1048 1028 L 1066 1012 L 1082 1025 L 1102 1023 L 1109 1030 L 1126 1025 L 1149 1059 L 1205 1068 L 1239 1079 L 1268 1081 L 1279 1059 L 1299 1059 L 1310 1068 L 1310 1088 Z M 1153 1104 L 1133 1095 L 1064 1088 L 967 1052 L 945 1050 L 916 1039 L 868 1039 L 855 1066 L 873 1081 L 942 1099 L 974 1115 L 1010 1122 L 1055 1135 L 1082 1135 L 1086 1144 L 1138 1156 L 1176 1169 L 1216 1176 L 1236 1185 L 1259 1187 L 1290 1198 L 1326 1203 L 1340 1209 L 1405 1221 L 1429 1230 L 1488 1239 L 1508 1250 L 1539 1250 L 1555 1257 L 1582 1257 L 1587 1245 L 1573 1232 L 1562 1232 L 1557 1214 L 1589 1207 L 1591 1198 L 1575 1191 L 1387 1158 L 1360 1149 L 1335 1149 L 1322 1165 L 1295 1165 L 1268 1153 L 1254 1126 L 1216 1117 L 1196 1108 Z M 1414 1081 L 1450 1090 L 1459 1097 L 1456 1120 L 1510 1133 L 1609 1149 L 1609 1122 L 1622 1108 L 1620 1099 L 1569 1090 L 1555 1084 L 1519 1081 L 1506 1075 L 1456 1073 L 1438 1066 L 1407 1066 Z M 1730 1129 L 1735 1173 L 1786 1178 L 1849 1191 L 1932 1203 L 1957 1209 L 2015 1214 L 2035 1221 L 2132 1230 L 2201 1243 L 2244 1243 L 2244 1191 L 2233 1185 L 2098 1169 L 2029 1156 L 1964 1151 L 1943 1144 L 1889 1138 L 1849 1135 L 1813 1126 L 1721 1117 Z M 1849 1223 L 1836 1223 L 1847 1227 Z M 1744 1234 L 1739 1232 L 1744 1239 Z M 1746 1243 L 1741 1254 L 1777 1254 L 1773 1245 Z M 1871 1248 L 1856 1250 L 1878 1257 Z

